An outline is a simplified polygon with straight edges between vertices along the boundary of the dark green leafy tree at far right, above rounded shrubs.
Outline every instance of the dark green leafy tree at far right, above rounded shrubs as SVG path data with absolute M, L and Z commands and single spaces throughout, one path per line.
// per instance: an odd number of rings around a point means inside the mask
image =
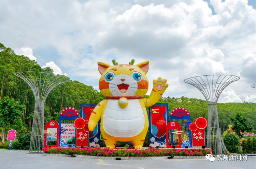
M 244 132 L 251 132 L 253 129 L 253 126 L 247 124 L 247 118 L 241 113 L 237 113 L 236 116 L 230 117 L 230 119 L 233 122 L 232 130 L 238 135 L 240 139 L 244 136 Z

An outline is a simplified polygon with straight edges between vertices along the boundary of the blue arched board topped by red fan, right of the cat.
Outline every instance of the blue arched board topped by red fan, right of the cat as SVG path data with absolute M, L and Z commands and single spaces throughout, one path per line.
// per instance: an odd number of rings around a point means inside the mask
M 170 121 L 177 121 L 181 126 L 181 131 L 183 131 L 181 148 L 185 148 L 185 146 L 191 147 L 192 146 L 191 131 L 188 129 L 188 126 L 191 122 L 190 122 L 190 113 L 187 111 L 187 109 L 179 107 L 172 110 L 172 112 L 170 113 Z M 189 135 L 186 135 L 186 132 L 188 132 Z M 187 136 L 189 136 L 189 139 L 184 139 Z M 173 145 L 172 129 L 171 129 L 171 141 Z

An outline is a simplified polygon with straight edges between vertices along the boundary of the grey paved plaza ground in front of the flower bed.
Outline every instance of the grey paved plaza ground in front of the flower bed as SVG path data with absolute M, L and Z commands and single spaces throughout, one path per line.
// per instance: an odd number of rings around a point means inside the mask
M 112 160 L 81 157 L 56 157 L 42 154 L 27 154 L 28 151 L 0 149 L 1 169 L 255 169 L 256 159 L 247 161 L 218 161 L 202 159 L 146 159 Z

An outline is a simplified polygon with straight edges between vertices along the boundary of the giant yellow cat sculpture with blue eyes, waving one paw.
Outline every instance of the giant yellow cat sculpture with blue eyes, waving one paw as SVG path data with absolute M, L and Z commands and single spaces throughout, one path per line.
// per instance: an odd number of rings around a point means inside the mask
M 166 79 L 153 80 L 153 89 L 148 99 L 143 98 L 148 90 L 149 61 L 133 65 L 114 65 L 98 62 L 101 74 L 100 92 L 105 96 L 91 113 L 89 130 L 93 131 L 101 118 L 100 131 L 106 147 L 115 148 L 117 141 L 131 141 L 140 149 L 148 130 L 146 107 L 154 105 L 168 87 Z

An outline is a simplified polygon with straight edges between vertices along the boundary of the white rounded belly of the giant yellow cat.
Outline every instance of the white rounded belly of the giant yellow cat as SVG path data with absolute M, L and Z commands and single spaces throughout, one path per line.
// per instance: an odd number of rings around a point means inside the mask
M 118 100 L 108 100 L 103 115 L 104 131 L 115 137 L 132 137 L 144 128 L 145 117 L 138 99 L 129 99 L 124 109 L 118 106 Z

